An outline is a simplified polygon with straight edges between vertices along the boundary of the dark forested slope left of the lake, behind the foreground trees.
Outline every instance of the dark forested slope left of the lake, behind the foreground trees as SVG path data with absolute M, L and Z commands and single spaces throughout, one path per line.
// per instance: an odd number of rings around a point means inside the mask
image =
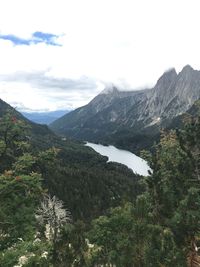
M 48 166 L 35 166 L 34 171 L 39 170 L 43 186 L 51 195 L 64 201 L 74 220 L 89 221 L 125 199 L 133 200 L 141 191 L 138 183 L 140 176 L 126 166 L 107 163 L 107 157 L 99 155 L 81 142 L 69 138 L 63 140 L 46 125 L 29 121 L 0 99 L 0 119 L 8 111 L 29 126 L 25 138 L 36 157 L 38 153 L 41 155 L 52 147 L 59 150 L 55 162 L 50 162 Z M 6 162 L 4 166 L 4 170 L 12 167 L 10 162 Z

